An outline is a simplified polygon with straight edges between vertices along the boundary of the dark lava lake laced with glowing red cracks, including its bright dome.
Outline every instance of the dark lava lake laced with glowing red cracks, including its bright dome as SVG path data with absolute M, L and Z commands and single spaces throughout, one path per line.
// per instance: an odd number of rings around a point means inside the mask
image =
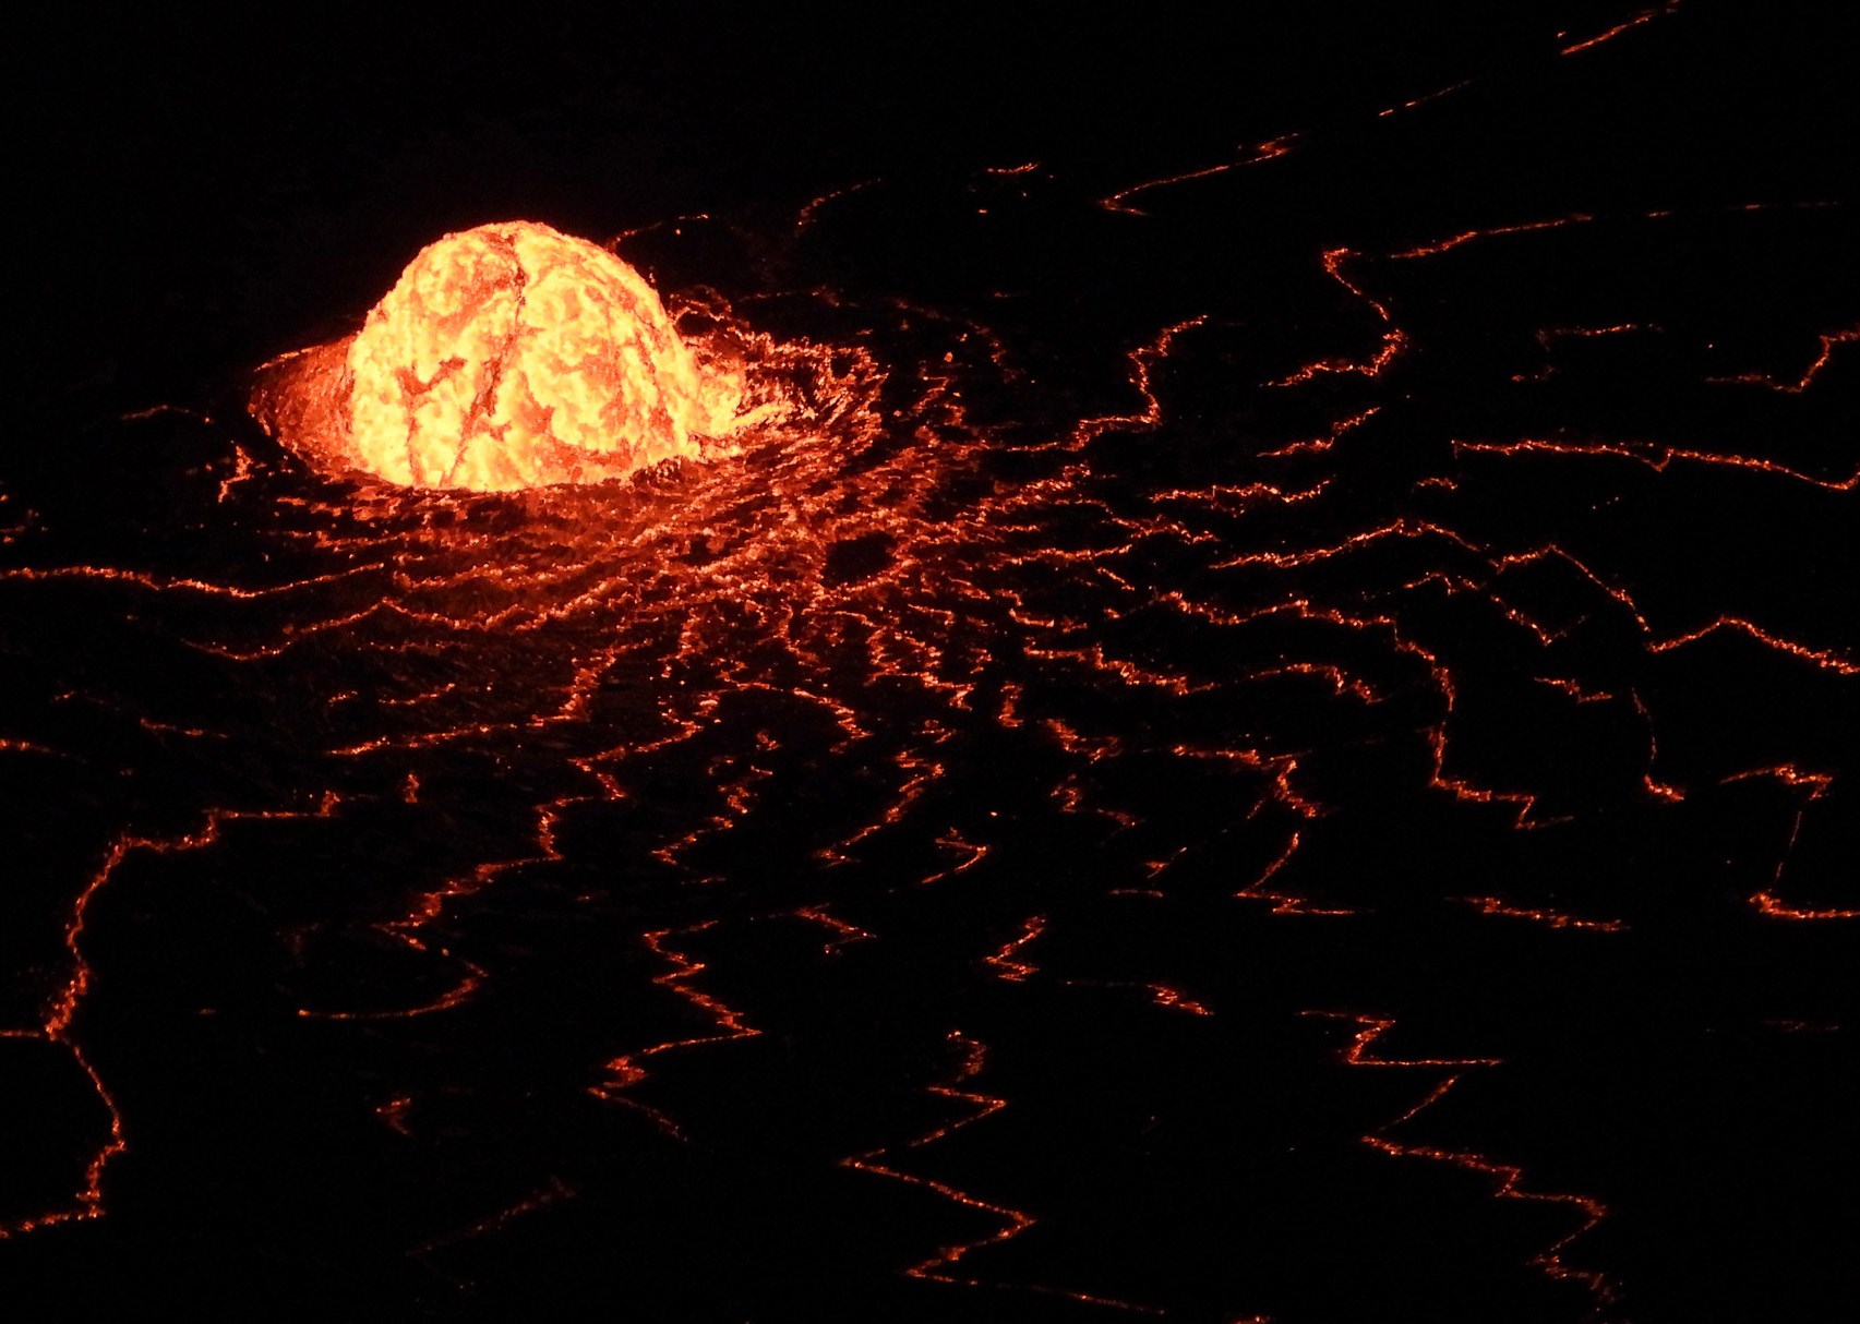
M 463 231 L 264 431 L 0 487 L 0 1276 L 1836 1318 L 1845 205 L 1293 206 L 1706 20 L 1109 182 L 850 175 L 722 273 L 748 223 Z

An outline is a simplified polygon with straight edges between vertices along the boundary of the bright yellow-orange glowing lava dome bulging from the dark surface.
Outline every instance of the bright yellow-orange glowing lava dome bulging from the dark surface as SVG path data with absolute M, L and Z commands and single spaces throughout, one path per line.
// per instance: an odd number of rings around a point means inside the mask
M 740 372 L 653 286 L 534 221 L 446 234 L 353 338 L 270 364 L 253 413 L 318 463 L 407 487 L 515 491 L 727 452 Z

